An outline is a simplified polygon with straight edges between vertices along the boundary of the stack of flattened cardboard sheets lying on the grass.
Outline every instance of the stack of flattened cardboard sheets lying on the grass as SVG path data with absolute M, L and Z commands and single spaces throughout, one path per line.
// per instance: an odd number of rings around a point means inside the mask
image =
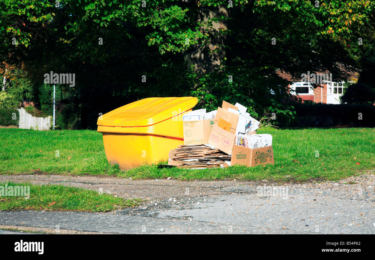
M 210 145 L 180 145 L 169 152 L 169 165 L 202 169 L 227 167 L 231 156 Z

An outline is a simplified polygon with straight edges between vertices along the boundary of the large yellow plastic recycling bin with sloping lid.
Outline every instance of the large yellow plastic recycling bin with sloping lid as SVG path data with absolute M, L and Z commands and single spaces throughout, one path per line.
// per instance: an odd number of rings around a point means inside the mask
M 182 115 L 196 103 L 196 97 L 150 97 L 102 115 L 97 124 L 107 160 L 123 170 L 168 160 L 184 143 Z

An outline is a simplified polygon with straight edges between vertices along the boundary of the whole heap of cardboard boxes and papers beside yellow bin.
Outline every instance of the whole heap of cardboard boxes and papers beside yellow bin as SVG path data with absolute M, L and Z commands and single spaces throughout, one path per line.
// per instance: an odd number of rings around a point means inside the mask
M 213 168 L 273 164 L 272 136 L 256 134 L 260 122 L 239 103 L 223 101 L 215 111 L 183 115 L 184 145 L 169 152 L 169 165 Z

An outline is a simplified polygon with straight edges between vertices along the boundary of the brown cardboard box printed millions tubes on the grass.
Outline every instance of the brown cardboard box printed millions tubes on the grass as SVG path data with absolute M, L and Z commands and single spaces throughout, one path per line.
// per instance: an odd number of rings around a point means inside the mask
M 275 164 L 272 145 L 257 149 L 233 145 L 231 165 L 239 164 L 251 167 L 269 163 Z

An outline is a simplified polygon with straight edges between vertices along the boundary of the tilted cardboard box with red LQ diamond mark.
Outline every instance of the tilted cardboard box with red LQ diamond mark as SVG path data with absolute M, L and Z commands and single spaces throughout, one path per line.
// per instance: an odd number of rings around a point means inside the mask
M 226 154 L 232 154 L 232 148 L 234 145 L 234 139 L 236 135 L 221 129 L 216 124 L 213 125 L 210 139 L 208 139 L 208 144 L 216 147 L 220 151 L 225 152 Z

